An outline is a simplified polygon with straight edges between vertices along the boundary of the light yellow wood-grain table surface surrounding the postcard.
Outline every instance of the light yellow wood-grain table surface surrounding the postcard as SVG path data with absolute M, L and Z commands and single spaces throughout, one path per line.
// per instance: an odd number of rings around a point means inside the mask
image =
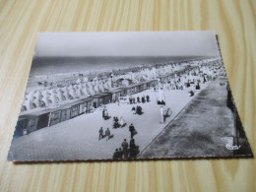
M 219 35 L 224 66 L 256 154 L 256 1 L 0 1 L 0 191 L 256 191 L 256 161 L 6 161 L 36 32 L 201 31 Z

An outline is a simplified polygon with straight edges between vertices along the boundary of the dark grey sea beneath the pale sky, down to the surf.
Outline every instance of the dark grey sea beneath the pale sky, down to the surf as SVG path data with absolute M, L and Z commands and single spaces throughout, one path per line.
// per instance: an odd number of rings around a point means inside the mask
M 204 59 L 203 56 L 153 57 L 33 57 L 30 77 L 89 71 L 111 71 L 137 65 Z

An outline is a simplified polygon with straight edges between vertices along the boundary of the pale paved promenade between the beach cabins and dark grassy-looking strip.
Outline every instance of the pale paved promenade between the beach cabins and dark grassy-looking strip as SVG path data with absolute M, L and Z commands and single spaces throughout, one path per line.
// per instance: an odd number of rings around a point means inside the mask
M 202 90 L 207 85 L 202 85 Z M 132 114 L 131 108 L 137 104 L 109 103 L 106 105 L 111 116 L 124 117 L 127 122 L 124 128 L 112 129 L 112 118 L 103 120 L 102 111 L 97 108 L 94 113 L 80 115 L 16 139 L 10 148 L 9 160 L 112 159 L 115 149 L 121 148 L 123 140 L 130 141 L 128 126 L 131 123 L 138 131 L 138 134 L 134 136 L 135 144 L 140 147 L 140 150 L 143 150 L 193 98 L 188 96 L 188 90 L 166 92 L 164 110 L 169 107 L 172 114 L 166 118 L 164 124 L 160 124 L 160 106 L 157 105 L 158 94 L 147 90 L 134 96 L 143 95 L 151 97 L 150 102 L 140 104 L 144 111 L 143 115 Z M 104 130 L 107 127 L 110 128 L 114 137 L 108 141 L 106 139 L 98 140 L 100 127 L 103 127 Z

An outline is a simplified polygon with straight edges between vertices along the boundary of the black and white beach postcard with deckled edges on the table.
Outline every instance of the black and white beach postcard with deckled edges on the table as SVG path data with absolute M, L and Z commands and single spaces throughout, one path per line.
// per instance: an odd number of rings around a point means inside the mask
M 37 33 L 8 160 L 246 157 L 215 32 Z

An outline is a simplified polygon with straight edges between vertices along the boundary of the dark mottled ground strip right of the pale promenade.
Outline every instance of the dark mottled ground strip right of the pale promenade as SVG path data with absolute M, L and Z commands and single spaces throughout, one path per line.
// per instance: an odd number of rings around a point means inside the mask
M 213 82 L 173 119 L 139 158 L 228 157 L 225 148 L 234 135 L 226 89 Z

